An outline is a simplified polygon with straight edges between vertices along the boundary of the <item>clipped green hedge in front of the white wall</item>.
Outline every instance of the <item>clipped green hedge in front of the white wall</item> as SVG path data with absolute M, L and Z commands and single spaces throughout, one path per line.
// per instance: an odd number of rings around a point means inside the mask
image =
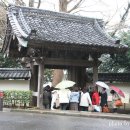
M 6 90 L 3 99 L 4 106 L 26 107 L 32 101 L 32 91 Z

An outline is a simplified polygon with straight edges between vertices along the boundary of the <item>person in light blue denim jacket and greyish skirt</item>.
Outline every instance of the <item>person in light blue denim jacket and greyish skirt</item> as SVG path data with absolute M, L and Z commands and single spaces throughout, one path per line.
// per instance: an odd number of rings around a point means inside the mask
M 74 87 L 72 92 L 70 93 L 70 110 L 78 111 L 79 97 L 79 89 L 78 87 Z

